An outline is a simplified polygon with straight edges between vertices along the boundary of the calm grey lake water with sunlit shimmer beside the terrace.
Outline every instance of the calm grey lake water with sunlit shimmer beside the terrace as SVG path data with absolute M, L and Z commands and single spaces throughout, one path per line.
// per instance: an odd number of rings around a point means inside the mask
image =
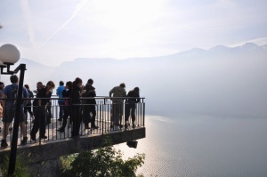
M 145 153 L 145 176 L 266 177 L 267 118 L 147 116 L 137 149 L 116 149 Z

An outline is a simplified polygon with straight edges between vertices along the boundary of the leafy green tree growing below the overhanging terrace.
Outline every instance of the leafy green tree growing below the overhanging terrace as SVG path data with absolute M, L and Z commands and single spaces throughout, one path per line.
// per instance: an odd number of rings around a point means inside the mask
M 120 150 L 112 146 L 61 157 L 61 176 L 127 176 L 135 177 L 137 168 L 144 163 L 144 154 L 123 160 Z M 141 175 L 140 175 L 141 176 Z

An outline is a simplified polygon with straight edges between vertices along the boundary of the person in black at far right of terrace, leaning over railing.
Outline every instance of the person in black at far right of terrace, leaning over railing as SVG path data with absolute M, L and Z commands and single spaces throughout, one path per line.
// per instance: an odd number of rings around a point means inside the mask
M 135 87 L 134 90 L 129 91 L 127 94 L 127 98 L 125 101 L 125 128 L 128 127 L 128 120 L 131 112 L 131 117 L 132 117 L 132 124 L 133 128 L 135 128 L 135 109 L 136 105 L 135 103 L 140 102 L 140 96 L 139 96 L 139 87 Z

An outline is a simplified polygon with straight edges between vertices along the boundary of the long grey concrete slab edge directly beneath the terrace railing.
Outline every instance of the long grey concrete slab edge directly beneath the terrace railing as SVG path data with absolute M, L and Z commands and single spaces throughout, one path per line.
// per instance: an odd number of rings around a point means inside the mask
M 99 149 L 103 141 L 108 138 L 112 145 L 145 138 L 145 127 L 136 127 L 131 130 L 117 130 L 105 134 L 91 134 L 79 138 L 67 138 L 57 141 L 41 141 L 18 146 L 18 155 L 26 155 L 31 162 L 45 161 L 54 157 L 61 157 L 85 150 Z M 10 147 L 0 149 L 0 155 L 9 155 Z

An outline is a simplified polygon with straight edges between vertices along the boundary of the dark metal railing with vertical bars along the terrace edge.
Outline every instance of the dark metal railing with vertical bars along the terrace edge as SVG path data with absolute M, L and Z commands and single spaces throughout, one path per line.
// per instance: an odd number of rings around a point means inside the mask
M 85 102 L 88 99 L 95 99 L 96 104 L 85 104 Z M 113 101 L 111 101 L 111 99 Z M 129 99 L 129 97 L 121 97 L 121 98 L 110 98 L 110 97 L 94 97 L 94 98 L 81 98 L 81 104 L 73 104 L 72 106 L 68 105 L 62 105 L 60 108 L 59 101 L 70 101 L 69 98 L 66 99 L 59 99 L 56 98 L 56 96 L 53 96 L 51 99 L 48 99 L 50 101 L 49 106 L 45 106 L 43 108 L 36 107 L 35 105 L 31 106 L 25 106 L 30 107 L 32 112 L 34 113 L 34 117 L 31 117 L 29 113 L 26 113 L 26 130 L 27 130 L 27 137 L 28 137 L 28 144 L 33 144 L 36 142 L 39 142 L 41 145 L 41 142 L 43 141 L 57 141 L 57 140 L 63 140 L 63 139 L 69 139 L 69 138 L 77 138 L 73 137 L 73 131 L 75 131 L 74 126 L 74 119 L 76 119 L 77 123 L 79 125 L 78 133 L 79 136 L 89 136 L 92 134 L 106 134 L 106 133 L 112 133 L 116 131 L 128 131 L 134 128 L 138 127 L 144 127 L 145 126 L 145 102 L 144 98 L 140 98 L 140 102 L 135 103 L 135 121 L 133 122 L 133 117 L 130 114 L 130 117 L 128 118 L 128 124 L 127 127 L 125 127 L 125 109 L 127 109 L 127 104 L 124 102 L 117 102 L 114 99 Z M 40 98 L 36 99 L 23 99 L 28 101 L 35 101 L 40 100 Z M 42 98 L 42 100 L 44 100 Z M 86 129 L 85 122 L 86 118 L 87 121 L 89 120 L 90 123 L 90 117 L 92 119 L 92 112 L 89 111 L 88 108 L 95 108 L 95 125 L 98 126 L 93 127 L 93 124 L 89 124 L 90 129 Z M 121 108 L 117 110 L 117 108 Z M 68 117 L 65 115 L 65 120 L 67 121 L 66 127 L 64 127 L 64 131 L 59 131 L 59 129 L 62 127 L 63 119 L 62 121 L 59 121 L 60 119 L 60 109 L 65 110 L 69 109 L 75 111 L 75 113 L 69 114 Z M 44 114 L 43 118 L 40 117 L 40 114 L 37 114 L 40 112 L 40 110 L 44 111 L 42 114 Z M 64 111 L 64 112 L 65 112 Z M 118 111 L 118 112 L 117 112 Z M 66 113 L 66 112 L 65 112 Z M 64 114 L 64 113 L 63 113 Z M 85 115 L 88 114 L 88 115 Z M 78 119 L 78 120 L 77 120 Z M 38 121 L 34 122 L 34 121 Z M 44 121 L 44 122 L 42 122 Z M 38 129 L 38 132 L 36 133 L 36 141 L 31 140 L 31 131 L 33 129 L 34 124 L 45 124 L 45 136 L 47 136 L 46 139 L 42 139 L 40 134 L 40 129 Z M 2 123 L 2 127 L 4 126 L 4 123 Z M 77 126 L 76 126 L 77 127 Z M 9 127 L 9 135 L 7 136 L 7 141 L 12 141 L 12 124 Z M 3 131 L 2 131 L 3 132 Z M 20 131 L 19 131 L 20 132 Z M 22 134 L 19 133 L 19 139 L 22 140 Z M 20 144 L 20 141 L 19 141 Z

